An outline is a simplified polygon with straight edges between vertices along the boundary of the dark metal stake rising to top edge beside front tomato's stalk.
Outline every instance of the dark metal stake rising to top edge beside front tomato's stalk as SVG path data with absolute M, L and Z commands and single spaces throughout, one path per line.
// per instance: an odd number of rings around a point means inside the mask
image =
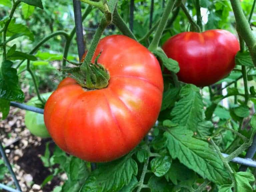
M 83 23 L 80 0 L 73 0 L 75 26 L 76 26 L 76 41 L 79 60 L 81 61 L 84 54 L 84 35 L 83 35 Z

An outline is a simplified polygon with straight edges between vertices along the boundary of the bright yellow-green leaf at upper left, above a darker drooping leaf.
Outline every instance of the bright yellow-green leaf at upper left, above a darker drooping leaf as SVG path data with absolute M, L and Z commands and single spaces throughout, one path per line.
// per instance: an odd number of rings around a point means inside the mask
M 21 23 L 15 23 L 15 19 L 12 19 L 8 25 L 6 36 L 11 37 L 17 33 L 23 33 L 31 41 L 34 41 L 34 35 L 29 28 Z

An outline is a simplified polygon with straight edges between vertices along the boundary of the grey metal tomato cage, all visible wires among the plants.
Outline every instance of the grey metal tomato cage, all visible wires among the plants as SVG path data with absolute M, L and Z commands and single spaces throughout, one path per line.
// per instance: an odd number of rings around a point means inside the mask
M 153 15 L 153 0 L 151 0 L 151 11 L 150 11 L 150 15 Z M 83 40 L 83 25 L 82 25 L 82 14 L 81 14 L 81 2 L 80 0 L 73 0 L 73 7 L 74 7 L 74 17 L 75 17 L 75 27 L 76 27 L 76 41 L 77 41 L 77 48 L 78 48 L 78 55 L 79 55 L 79 59 L 81 60 L 83 54 L 84 54 L 84 40 Z M 164 0 L 162 3 L 162 7 L 164 7 Z M 134 0 L 131 0 L 130 3 L 130 29 L 133 29 L 133 11 L 134 11 Z M 150 22 L 150 25 L 152 24 L 152 20 Z M 10 103 L 11 106 L 13 107 L 17 107 L 20 109 L 25 109 L 27 111 L 33 111 L 36 113 L 44 113 L 44 110 L 41 108 L 37 108 L 37 107 L 33 107 L 33 106 L 28 106 L 22 103 L 17 103 L 17 102 L 11 102 Z M 152 136 L 148 136 L 149 141 L 153 140 Z M 234 163 L 238 163 L 241 164 L 241 167 L 239 169 L 239 171 L 246 171 L 247 167 L 255 167 L 256 168 L 256 161 L 253 161 L 252 158 L 254 156 L 256 152 L 256 135 L 253 138 L 253 143 L 252 145 L 248 148 L 248 151 L 246 153 L 246 158 L 240 158 L 240 157 L 235 157 L 234 159 L 232 159 L 231 161 Z M 5 162 L 5 165 L 7 166 L 14 184 L 16 186 L 17 189 L 8 187 L 2 183 L 0 183 L 0 188 L 5 189 L 7 191 L 10 192 L 21 192 L 21 188 L 19 185 L 19 182 L 15 176 L 15 173 L 11 167 L 11 164 L 6 156 L 6 153 L 4 151 L 4 148 L 2 146 L 2 143 L 0 141 L 0 153 L 1 156 L 3 157 L 3 160 Z M 228 154 L 222 153 L 223 157 L 227 157 Z M 96 169 L 96 164 L 95 163 L 91 163 L 91 168 L 92 170 Z

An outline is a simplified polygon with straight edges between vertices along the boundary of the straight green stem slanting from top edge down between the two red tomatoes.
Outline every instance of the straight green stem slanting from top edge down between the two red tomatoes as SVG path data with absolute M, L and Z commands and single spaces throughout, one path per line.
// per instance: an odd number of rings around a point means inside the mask
M 175 4 L 176 0 L 168 0 L 168 3 L 165 7 L 165 10 L 164 10 L 164 13 L 162 15 L 162 18 L 160 20 L 160 23 L 157 27 L 157 30 L 156 30 L 156 33 L 155 33 L 155 36 L 152 40 L 152 42 L 150 43 L 148 49 L 150 51 L 154 51 L 157 49 L 158 47 L 158 44 L 159 44 L 159 41 L 160 41 L 160 38 L 162 36 L 162 33 L 164 31 L 164 28 L 166 26 L 166 23 L 167 23 L 167 20 L 168 20 L 168 17 L 174 7 L 174 4 Z

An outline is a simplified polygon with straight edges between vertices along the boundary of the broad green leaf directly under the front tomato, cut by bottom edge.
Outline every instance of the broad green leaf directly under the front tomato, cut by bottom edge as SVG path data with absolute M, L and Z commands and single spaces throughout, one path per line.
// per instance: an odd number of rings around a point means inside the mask
M 118 191 L 137 175 L 138 165 L 131 158 L 133 151 L 125 157 L 109 163 L 98 164 L 98 169 L 85 181 L 81 192 Z

